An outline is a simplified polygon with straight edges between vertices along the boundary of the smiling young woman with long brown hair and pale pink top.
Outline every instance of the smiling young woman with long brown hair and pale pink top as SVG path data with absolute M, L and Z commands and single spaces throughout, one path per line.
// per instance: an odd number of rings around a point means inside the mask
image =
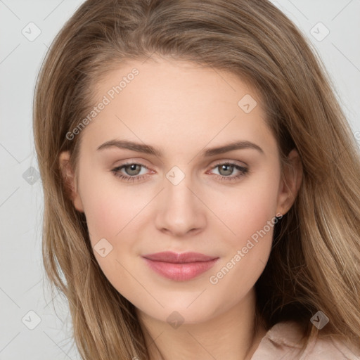
M 84 359 L 359 356 L 359 153 L 269 1 L 86 1 L 34 137 Z

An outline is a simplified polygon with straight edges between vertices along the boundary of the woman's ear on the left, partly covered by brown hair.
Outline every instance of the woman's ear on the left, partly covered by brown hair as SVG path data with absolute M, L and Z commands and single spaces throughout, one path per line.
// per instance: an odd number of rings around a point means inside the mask
M 75 172 L 70 164 L 70 152 L 63 151 L 59 156 L 59 166 L 60 171 L 63 176 L 63 181 L 65 184 L 65 189 L 74 204 L 74 207 L 79 212 L 84 212 L 84 207 L 82 205 L 82 200 L 80 198 L 79 192 L 77 190 L 77 179 Z

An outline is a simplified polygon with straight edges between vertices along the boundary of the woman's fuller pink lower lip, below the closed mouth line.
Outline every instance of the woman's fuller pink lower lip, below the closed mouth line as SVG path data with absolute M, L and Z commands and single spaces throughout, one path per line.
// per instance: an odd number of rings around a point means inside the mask
M 148 266 L 158 274 L 165 276 L 174 281 L 186 281 L 203 274 L 214 266 L 219 259 L 213 259 L 208 262 L 188 262 L 182 264 L 174 264 L 172 262 L 156 262 L 154 260 L 146 259 Z

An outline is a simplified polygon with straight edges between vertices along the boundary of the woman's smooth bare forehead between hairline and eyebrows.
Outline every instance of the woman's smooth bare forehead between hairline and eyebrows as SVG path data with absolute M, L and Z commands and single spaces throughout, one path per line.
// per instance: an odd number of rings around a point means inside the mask
M 108 72 L 94 93 L 94 105 L 105 105 L 82 134 L 93 147 L 126 138 L 180 150 L 271 136 L 257 91 L 224 70 L 162 58 L 128 61 Z

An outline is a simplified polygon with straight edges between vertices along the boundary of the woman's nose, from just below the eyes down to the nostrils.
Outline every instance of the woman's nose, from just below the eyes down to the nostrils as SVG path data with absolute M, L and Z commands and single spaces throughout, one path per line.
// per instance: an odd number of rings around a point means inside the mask
M 199 233 L 206 226 L 205 205 L 188 176 L 174 185 L 167 179 L 159 195 L 155 226 L 163 233 L 184 237 Z

